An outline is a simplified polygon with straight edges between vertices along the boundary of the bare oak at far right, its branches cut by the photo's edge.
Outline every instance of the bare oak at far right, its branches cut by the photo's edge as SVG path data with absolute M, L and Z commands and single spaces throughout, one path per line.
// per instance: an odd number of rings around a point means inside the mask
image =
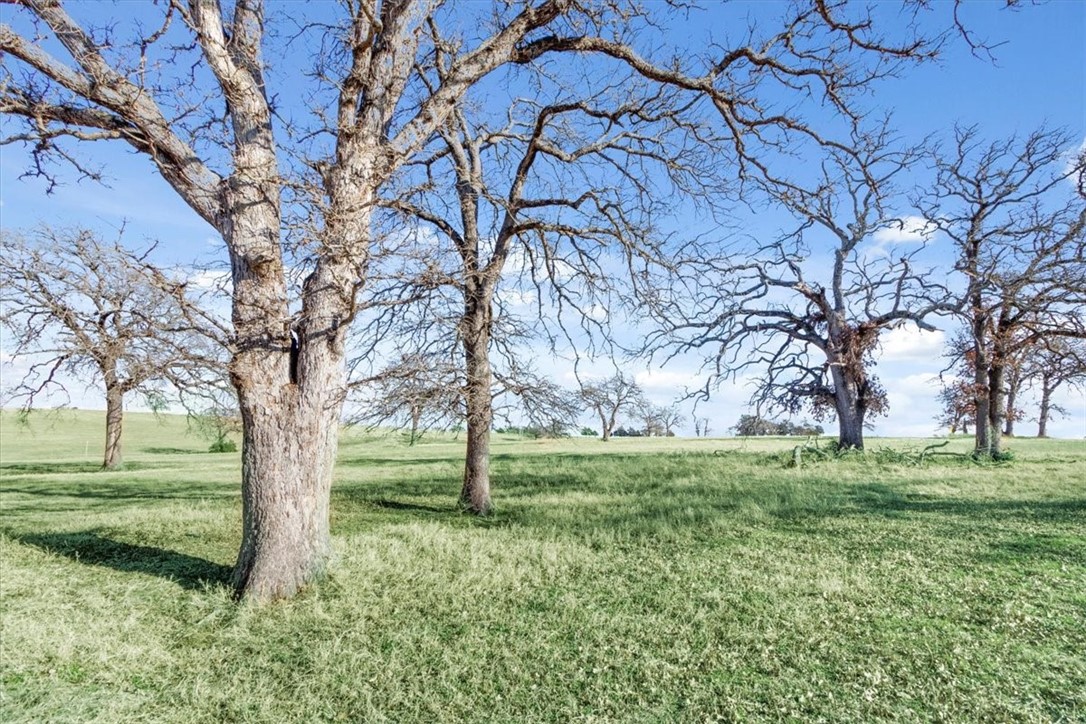
M 1086 338 L 1086 153 L 1040 129 L 985 143 L 956 128 L 919 194 L 965 279 L 978 456 L 1002 454 L 1008 373 L 1043 341 Z

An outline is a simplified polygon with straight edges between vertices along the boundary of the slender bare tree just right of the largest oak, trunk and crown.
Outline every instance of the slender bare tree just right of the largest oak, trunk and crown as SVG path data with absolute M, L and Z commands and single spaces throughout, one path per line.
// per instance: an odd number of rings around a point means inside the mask
M 503 329 L 495 323 L 495 307 L 504 312 L 504 329 L 528 326 L 510 323 L 515 313 L 502 304 L 500 290 L 532 299 L 536 326 L 571 310 L 588 333 L 606 333 L 620 270 L 630 268 L 631 257 L 660 255 L 648 221 L 657 205 L 649 191 L 652 172 L 664 178 L 692 175 L 681 142 L 666 140 L 679 124 L 661 128 L 671 110 L 660 98 L 633 94 L 631 100 L 635 81 L 626 80 L 620 101 L 610 98 L 617 87 L 591 100 L 541 104 L 517 99 L 493 125 L 473 118 L 482 112 L 455 110 L 439 129 L 440 142 L 416 164 L 425 170 L 419 182 L 383 202 L 426 225 L 456 252 L 455 266 L 440 276 L 462 309 L 456 335 L 464 359 L 467 454 L 460 506 L 477 515 L 491 507 L 491 348 L 510 344 L 495 340 Z M 456 199 L 455 207 L 449 207 L 449 199 Z M 518 367 L 515 355 L 506 356 Z M 568 407 L 561 395 L 533 404 L 551 388 L 528 384 L 531 374 L 510 374 L 509 367 L 504 386 L 520 389 L 530 414 Z

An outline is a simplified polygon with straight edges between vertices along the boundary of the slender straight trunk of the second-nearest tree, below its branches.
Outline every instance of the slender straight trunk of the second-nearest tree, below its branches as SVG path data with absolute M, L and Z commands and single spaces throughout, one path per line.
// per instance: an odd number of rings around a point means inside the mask
M 490 300 L 468 299 L 464 313 L 464 360 L 467 373 L 467 456 L 460 507 L 485 516 L 490 512 L 490 428 L 494 419 L 490 371 Z

